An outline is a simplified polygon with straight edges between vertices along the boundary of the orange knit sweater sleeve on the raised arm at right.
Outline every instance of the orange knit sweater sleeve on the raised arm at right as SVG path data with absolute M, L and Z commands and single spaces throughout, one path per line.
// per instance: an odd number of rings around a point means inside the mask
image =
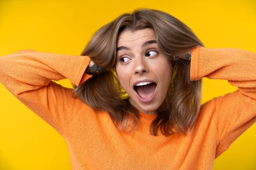
M 191 80 L 228 80 L 238 89 L 210 102 L 218 134 L 216 157 L 256 122 L 256 53 L 198 47 L 192 52 Z

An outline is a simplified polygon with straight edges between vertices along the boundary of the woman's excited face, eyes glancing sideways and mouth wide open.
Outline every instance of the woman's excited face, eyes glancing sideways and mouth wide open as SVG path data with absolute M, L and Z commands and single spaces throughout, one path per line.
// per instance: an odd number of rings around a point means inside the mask
M 141 113 L 157 114 L 171 82 L 172 64 L 158 48 L 152 29 L 121 32 L 116 70 L 129 102 Z

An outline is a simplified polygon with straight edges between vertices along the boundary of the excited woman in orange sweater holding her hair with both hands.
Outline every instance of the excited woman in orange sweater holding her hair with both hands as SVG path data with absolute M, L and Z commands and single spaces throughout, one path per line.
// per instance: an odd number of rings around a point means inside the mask
M 73 170 L 211 169 L 256 121 L 256 54 L 204 48 L 169 14 L 124 14 L 82 55 L 0 58 L 0 82 L 65 138 Z M 238 90 L 200 106 L 203 77 Z

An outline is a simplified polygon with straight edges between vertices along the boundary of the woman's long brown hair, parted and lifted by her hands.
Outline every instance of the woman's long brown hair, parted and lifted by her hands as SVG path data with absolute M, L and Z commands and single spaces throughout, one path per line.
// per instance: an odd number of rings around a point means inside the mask
M 172 82 L 165 101 L 158 108 L 158 116 L 151 123 L 152 135 L 158 130 L 165 136 L 174 130 L 193 129 L 200 108 L 201 80 L 190 81 L 190 62 L 178 57 L 185 51 L 203 46 L 197 36 L 177 18 L 150 9 L 123 14 L 101 27 L 89 41 L 82 55 L 106 71 L 93 77 L 74 90 L 83 102 L 95 110 L 104 110 L 122 131 L 134 129 L 139 123 L 138 111 L 125 98 L 125 91 L 115 75 L 118 35 L 125 29 L 151 28 L 158 47 L 173 63 Z

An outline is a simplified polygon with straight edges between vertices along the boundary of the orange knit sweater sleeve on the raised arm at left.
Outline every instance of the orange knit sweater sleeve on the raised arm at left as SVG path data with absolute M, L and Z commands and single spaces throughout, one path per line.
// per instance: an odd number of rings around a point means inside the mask
M 72 89 L 52 80 L 69 79 L 80 85 L 88 78 L 86 56 L 19 51 L 0 57 L 0 82 L 21 102 L 52 125 L 61 135 L 75 113 L 78 100 Z

